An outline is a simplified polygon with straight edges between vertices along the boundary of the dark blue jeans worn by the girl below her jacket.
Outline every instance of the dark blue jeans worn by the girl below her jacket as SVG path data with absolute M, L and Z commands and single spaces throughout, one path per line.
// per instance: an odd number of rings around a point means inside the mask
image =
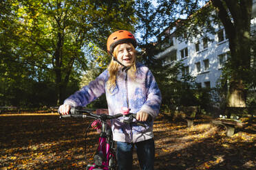
M 131 170 L 133 148 L 135 146 L 141 170 L 153 170 L 155 143 L 153 138 L 138 143 L 116 142 L 116 156 L 119 170 Z

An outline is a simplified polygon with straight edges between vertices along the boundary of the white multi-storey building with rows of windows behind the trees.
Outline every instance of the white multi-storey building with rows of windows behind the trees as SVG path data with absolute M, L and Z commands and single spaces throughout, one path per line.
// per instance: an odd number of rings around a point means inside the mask
M 256 0 L 253 0 L 251 25 L 251 29 L 256 30 Z M 163 45 L 165 50 L 156 57 L 170 66 L 175 61 L 183 60 L 185 67 L 182 74 L 196 77 L 195 81 L 201 87 L 215 87 L 229 56 L 224 27 L 215 25 L 216 34 L 206 33 L 207 38 L 195 37 L 188 42 L 178 40 L 175 31 L 170 34 L 170 30 L 166 29 L 164 32 L 169 34 L 169 39 Z

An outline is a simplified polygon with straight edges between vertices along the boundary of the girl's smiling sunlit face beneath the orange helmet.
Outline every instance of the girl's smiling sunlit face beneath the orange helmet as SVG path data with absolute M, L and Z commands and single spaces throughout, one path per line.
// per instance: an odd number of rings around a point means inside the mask
M 122 43 L 118 45 L 116 58 L 125 66 L 132 66 L 135 61 L 135 49 L 131 44 Z

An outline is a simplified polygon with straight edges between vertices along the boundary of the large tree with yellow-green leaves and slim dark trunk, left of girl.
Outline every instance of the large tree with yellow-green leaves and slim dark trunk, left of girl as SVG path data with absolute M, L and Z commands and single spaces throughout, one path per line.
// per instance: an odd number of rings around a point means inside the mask
M 133 1 L 7 2 L 3 4 L 8 10 L 1 15 L 0 32 L 10 42 L 7 58 L 30 65 L 41 73 L 47 71 L 56 84 L 57 104 L 65 97 L 70 76 L 87 69 L 84 49 L 89 42 L 105 49 L 111 32 L 132 31 L 136 22 Z

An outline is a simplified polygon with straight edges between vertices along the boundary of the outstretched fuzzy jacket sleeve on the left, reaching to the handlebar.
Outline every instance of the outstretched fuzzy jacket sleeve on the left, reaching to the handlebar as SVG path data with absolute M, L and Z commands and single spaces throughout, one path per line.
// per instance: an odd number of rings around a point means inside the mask
M 64 104 L 70 106 L 86 106 L 94 101 L 100 95 L 105 93 L 105 82 L 107 82 L 108 72 L 105 70 L 95 80 L 83 86 L 81 90 L 76 91 L 73 95 L 65 99 Z

